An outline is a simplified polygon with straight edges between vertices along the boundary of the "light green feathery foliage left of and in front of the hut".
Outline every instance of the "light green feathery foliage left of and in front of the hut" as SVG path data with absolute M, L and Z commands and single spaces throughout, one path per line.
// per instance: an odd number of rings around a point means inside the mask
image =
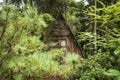
M 39 40 L 54 20 L 51 15 L 38 14 L 37 9 L 30 6 L 22 11 L 15 6 L 9 8 L 9 12 L 3 8 L 0 14 L 1 23 L 6 21 L 0 30 L 3 33 L 0 40 L 0 79 L 29 80 L 52 76 L 69 79 L 73 76 L 80 63 L 79 56 L 64 55 L 65 49 L 46 51 L 48 46 Z

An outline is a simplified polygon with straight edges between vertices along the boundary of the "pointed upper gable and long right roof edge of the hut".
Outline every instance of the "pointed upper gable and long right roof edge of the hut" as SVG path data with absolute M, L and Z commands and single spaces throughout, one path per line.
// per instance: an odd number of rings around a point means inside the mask
M 67 24 L 65 17 L 63 16 L 62 13 L 60 14 L 60 16 L 61 16 L 62 20 L 58 21 L 58 23 L 53 27 L 52 36 L 56 36 L 56 37 L 59 37 L 59 36 L 71 36 L 72 39 L 74 40 L 74 43 L 76 44 L 76 46 L 79 49 L 79 53 L 80 53 L 81 57 L 85 58 L 85 55 L 82 52 L 82 48 L 78 44 L 74 34 L 72 33 L 69 25 Z

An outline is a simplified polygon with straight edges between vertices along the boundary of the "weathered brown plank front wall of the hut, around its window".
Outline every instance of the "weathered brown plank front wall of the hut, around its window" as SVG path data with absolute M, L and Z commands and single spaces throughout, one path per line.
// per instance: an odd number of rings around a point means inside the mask
M 74 35 L 67 27 L 61 25 L 54 26 L 51 35 L 51 41 L 56 41 L 59 43 L 59 47 L 57 48 L 65 47 L 66 53 L 72 52 L 81 54 L 79 46 L 75 41 Z M 66 41 L 66 46 L 60 46 L 62 44 L 61 42 L 63 41 Z

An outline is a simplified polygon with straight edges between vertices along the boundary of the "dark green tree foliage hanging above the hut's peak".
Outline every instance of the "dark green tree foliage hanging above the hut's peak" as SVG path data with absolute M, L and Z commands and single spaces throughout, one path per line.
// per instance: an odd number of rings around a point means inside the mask
M 66 6 L 69 3 L 69 0 L 11 0 L 10 3 L 12 4 L 27 4 L 28 2 L 38 8 L 38 11 L 41 13 L 49 13 L 54 16 L 56 19 L 60 14 L 65 13 Z

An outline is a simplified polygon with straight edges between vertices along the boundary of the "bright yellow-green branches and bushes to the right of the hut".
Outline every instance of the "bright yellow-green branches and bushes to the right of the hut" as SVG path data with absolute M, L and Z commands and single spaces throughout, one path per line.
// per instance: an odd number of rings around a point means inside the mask
M 100 3 L 104 5 L 102 2 Z M 82 63 L 81 69 L 84 72 L 79 73 L 80 80 L 119 80 L 119 7 L 120 2 L 103 8 L 96 8 L 97 14 L 94 13 L 95 7 L 90 7 L 87 14 L 91 16 L 91 25 L 94 22 L 94 17 L 97 18 L 97 51 L 94 49 L 95 35 L 93 31 L 80 32 L 78 41 L 83 44 L 83 50 L 88 57 Z

